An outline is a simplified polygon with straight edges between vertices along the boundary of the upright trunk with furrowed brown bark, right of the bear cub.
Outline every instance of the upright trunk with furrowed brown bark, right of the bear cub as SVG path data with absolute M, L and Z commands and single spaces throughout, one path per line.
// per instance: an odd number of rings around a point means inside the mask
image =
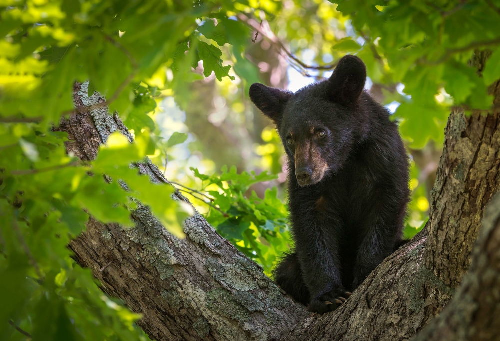
M 434 302 L 427 318 L 440 312 L 470 265 L 485 205 L 498 191 L 500 177 L 498 114 L 466 117 L 453 109 L 431 197 L 424 266 L 439 281 L 426 285 Z

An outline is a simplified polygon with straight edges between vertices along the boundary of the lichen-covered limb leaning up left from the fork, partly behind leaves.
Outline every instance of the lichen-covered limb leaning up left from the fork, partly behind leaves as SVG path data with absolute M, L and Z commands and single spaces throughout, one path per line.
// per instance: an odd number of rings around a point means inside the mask
M 103 101 L 86 93 L 86 84 L 76 85 L 77 106 Z M 117 115 L 107 115 L 107 108 L 82 110 L 58 129 L 69 133 L 68 151 L 83 160 L 94 158 L 113 131 L 132 139 Z M 150 162 L 138 167 L 153 182 L 167 182 Z M 284 295 L 198 213 L 185 221 L 187 237 L 182 240 L 144 206 L 132 217 L 134 228 L 91 218 L 87 231 L 69 246 L 78 262 L 92 269 L 104 292 L 144 315 L 138 324 L 151 338 L 272 340 L 304 316 L 302 305 Z

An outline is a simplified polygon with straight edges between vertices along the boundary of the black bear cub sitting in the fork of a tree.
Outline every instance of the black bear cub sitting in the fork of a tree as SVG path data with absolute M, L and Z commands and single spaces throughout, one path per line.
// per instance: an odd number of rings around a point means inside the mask
M 389 112 L 363 91 L 365 81 L 364 63 L 347 55 L 331 78 L 294 94 L 250 87 L 289 158 L 295 250 L 274 279 L 314 312 L 345 302 L 401 244 L 408 158 Z

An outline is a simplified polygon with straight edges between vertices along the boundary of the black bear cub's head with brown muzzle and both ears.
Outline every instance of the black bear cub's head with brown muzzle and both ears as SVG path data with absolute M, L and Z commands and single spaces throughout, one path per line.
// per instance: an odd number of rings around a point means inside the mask
M 347 55 L 328 80 L 296 93 L 251 85 L 250 98 L 276 124 L 300 186 L 339 170 L 362 139 L 359 101 L 365 81 L 364 63 Z

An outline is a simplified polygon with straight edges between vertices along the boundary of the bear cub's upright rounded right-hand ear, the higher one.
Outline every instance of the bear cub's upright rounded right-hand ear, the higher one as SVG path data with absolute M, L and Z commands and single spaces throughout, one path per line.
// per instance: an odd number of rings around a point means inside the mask
M 328 82 L 333 101 L 346 106 L 354 104 L 364 89 L 366 66 L 359 57 L 346 55 L 340 59 Z

